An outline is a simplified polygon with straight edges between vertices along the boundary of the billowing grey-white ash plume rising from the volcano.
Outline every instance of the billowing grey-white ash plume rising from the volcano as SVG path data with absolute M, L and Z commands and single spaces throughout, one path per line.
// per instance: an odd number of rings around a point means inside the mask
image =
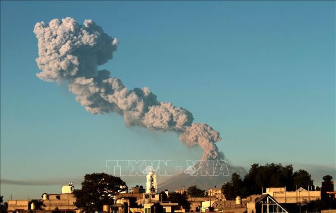
M 200 145 L 203 160 L 223 158 L 215 142 L 219 132 L 207 124 L 193 123 L 193 114 L 172 103 L 157 100 L 148 87 L 128 90 L 120 79 L 98 66 L 113 58 L 118 41 L 91 20 L 83 25 L 72 18 L 39 22 L 34 33 L 38 39 L 37 77 L 44 81 L 67 81 L 76 100 L 92 114 L 115 112 L 127 126 L 150 130 L 175 131 L 187 146 Z

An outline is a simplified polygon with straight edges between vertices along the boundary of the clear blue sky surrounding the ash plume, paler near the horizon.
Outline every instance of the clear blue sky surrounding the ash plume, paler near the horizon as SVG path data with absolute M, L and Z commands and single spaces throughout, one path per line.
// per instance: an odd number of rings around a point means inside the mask
M 183 164 L 202 156 L 174 133 L 91 115 L 65 84 L 35 76 L 35 23 L 68 16 L 117 37 L 102 68 L 218 130 L 230 164 L 293 164 L 316 185 L 336 175 L 335 2 L 1 1 L 5 200 L 57 193 L 69 181 L 79 187 L 84 174 L 106 170 L 107 159 Z

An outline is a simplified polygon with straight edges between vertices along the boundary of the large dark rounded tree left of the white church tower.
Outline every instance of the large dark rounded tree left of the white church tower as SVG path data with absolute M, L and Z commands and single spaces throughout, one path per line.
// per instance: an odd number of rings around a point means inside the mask
M 119 177 L 106 173 L 93 173 L 84 176 L 81 189 L 73 191 L 74 205 L 82 212 L 102 211 L 103 205 L 113 204 L 113 197 L 127 188 Z

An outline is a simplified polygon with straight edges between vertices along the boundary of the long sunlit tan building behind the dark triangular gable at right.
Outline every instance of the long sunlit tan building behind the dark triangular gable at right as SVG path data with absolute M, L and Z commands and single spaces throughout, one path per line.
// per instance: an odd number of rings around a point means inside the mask
M 266 188 L 266 192 L 279 203 L 301 203 L 304 201 L 311 201 L 321 199 L 320 191 L 310 191 L 302 187 L 296 191 L 286 191 L 286 187 L 271 187 Z

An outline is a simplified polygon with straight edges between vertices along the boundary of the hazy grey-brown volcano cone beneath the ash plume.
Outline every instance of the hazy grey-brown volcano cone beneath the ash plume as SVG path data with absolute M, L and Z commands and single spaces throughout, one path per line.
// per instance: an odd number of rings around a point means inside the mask
M 243 167 L 233 167 L 225 161 L 201 161 L 195 166 L 189 166 L 186 170 L 162 179 L 158 184 L 159 191 L 181 189 L 182 186 L 197 185 L 198 188 L 207 190 L 215 186 L 220 188 L 226 182 L 231 181 L 231 175 L 237 173 L 242 178 L 247 174 Z

